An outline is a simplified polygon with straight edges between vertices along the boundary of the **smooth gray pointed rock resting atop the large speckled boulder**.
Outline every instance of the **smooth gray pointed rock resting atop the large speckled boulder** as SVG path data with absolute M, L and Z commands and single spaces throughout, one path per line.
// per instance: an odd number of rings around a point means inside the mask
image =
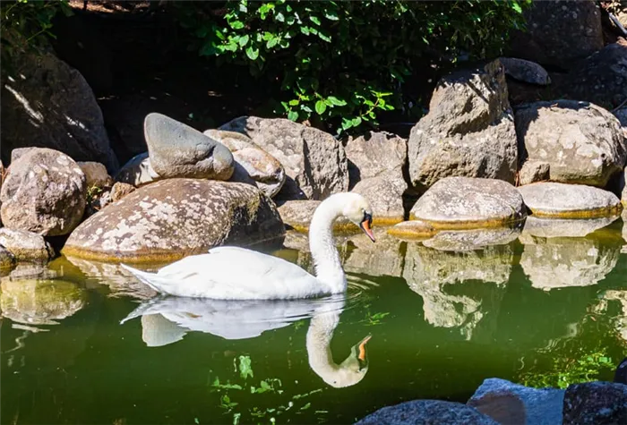
M 231 151 L 189 125 L 151 113 L 143 131 L 150 166 L 163 178 L 228 180 L 233 174 Z

